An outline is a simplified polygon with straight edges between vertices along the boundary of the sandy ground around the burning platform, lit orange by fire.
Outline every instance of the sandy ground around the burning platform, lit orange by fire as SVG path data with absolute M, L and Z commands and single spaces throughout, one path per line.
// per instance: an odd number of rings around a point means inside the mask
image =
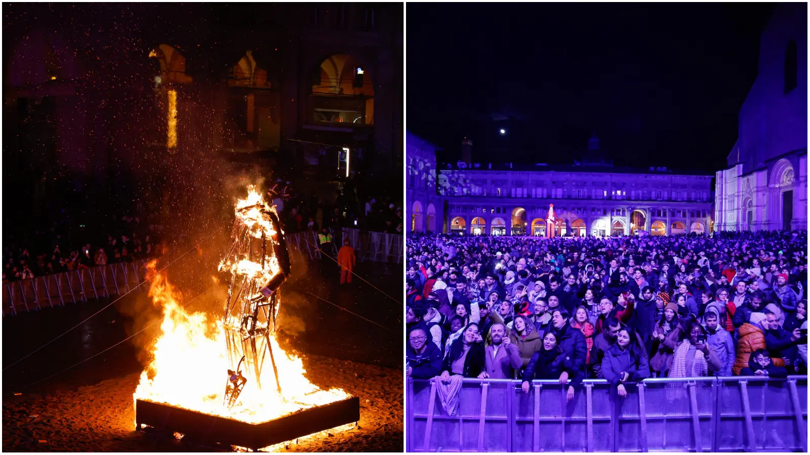
M 291 444 L 290 452 L 402 452 L 402 372 L 309 355 L 309 380 L 360 398 L 358 428 Z M 2 403 L 2 449 L 14 452 L 217 452 L 228 446 L 190 442 L 134 431 L 132 394 L 139 373 Z M 40 442 L 40 440 L 44 442 Z

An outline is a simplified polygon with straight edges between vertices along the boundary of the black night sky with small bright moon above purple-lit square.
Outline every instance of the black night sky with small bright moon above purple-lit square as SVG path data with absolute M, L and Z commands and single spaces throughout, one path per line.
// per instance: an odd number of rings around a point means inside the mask
M 774 4 L 407 4 L 407 130 L 479 162 L 714 172 Z M 506 130 L 501 135 L 500 131 Z

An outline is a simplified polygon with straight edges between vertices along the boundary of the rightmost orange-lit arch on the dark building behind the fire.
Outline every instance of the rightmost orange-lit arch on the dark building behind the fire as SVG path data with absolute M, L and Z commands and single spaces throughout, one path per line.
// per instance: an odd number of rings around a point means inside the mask
M 373 125 L 374 87 L 369 68 L 338 53 L 313 68 L 310 106 L 313 121 Z

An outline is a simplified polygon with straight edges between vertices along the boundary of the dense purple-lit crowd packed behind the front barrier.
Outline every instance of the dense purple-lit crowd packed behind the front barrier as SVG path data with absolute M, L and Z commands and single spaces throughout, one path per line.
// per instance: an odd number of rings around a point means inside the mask
M 407 366 L 624 397 L 648 377 L 807 374 L 807 231 L 713 236 L 412 234 Z

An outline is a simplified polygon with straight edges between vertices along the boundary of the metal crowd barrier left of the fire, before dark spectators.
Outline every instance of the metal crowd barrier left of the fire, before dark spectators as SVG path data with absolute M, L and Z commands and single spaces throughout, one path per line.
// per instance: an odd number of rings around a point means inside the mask
M 87 299 L 121 296 L 143 278 L 145 260 L 116 262 L 3 283 L 2 314 L 17 314 Z

